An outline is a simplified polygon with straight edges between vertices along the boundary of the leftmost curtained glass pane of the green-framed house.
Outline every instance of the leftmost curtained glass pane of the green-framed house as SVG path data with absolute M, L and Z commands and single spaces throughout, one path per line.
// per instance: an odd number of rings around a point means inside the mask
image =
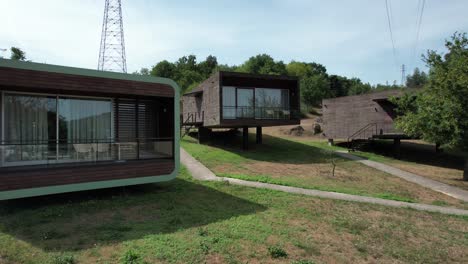
M 55 160 L 56 103 L 55 97 L 5 94 L 2 161 Z

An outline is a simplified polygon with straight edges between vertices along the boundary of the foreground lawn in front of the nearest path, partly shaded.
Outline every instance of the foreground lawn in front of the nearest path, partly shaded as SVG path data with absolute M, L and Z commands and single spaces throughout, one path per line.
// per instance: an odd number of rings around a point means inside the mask
M 468 218 L 198 182 L 0 202 L 0 263 L 468 261 Z

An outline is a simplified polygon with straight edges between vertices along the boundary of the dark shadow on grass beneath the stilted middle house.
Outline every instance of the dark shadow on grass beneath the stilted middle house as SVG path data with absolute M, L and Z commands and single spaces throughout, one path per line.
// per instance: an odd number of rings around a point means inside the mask
M 196 133 L 191 134 L 196 138 Z M 332 152 L 300 142 L 263 135 L 263 143 L 255 143 L 255 134 L 249 134 L 249 149 L 242 149 L 242 136 L 232 132 L 212 132 L 209 146 L 238 154 L 246 159 L 285 164 L 310 164 L 330 162 Z

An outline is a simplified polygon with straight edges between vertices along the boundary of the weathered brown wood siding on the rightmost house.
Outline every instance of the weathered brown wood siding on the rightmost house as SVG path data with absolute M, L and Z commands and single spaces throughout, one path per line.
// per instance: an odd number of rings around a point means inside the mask
M 388 104 L 379 104 L 374 100 L 399 96 L 403 92 L 389 90 L 323 100 L 324 135 L 327 138 L 347 139 L 370 123 L 393 127 L 393 111 Z

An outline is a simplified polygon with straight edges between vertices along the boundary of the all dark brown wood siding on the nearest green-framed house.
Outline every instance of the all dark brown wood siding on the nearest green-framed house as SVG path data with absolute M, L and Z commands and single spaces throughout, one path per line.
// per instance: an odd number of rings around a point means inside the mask
M 114 118 L 119 120 L 119 115 L 122 117 L 130 114 L 130 123 L 134 124 L 132 121 L 142 116 L 145 118 L 144 122 L 149 122 L 145 124 L 142 132 L 161 128 L 157 130 L 155 137 L 174 137 L 175 91 L 166 84 L 0 67 L 0 90 L 125 98 L 120 101 L 123 104 L 159 98 L 159 102 L 163 103 L 156 106 L 145 103 L 145 109 L 139 111 L 136 111 L 135 104 L 132 110 L 124 109 L 122 105 L 115 112 Z M 156 111 L 157 114 L 149 115 L 145 111 Z M 128 123 L 116 122 L 115 128 L 116 136 L 137 136 L 137 131 Z M 174 159 L 6 167 L 0 169 L 0 191 L 167 175 L 172 173 L 175 167 Z

